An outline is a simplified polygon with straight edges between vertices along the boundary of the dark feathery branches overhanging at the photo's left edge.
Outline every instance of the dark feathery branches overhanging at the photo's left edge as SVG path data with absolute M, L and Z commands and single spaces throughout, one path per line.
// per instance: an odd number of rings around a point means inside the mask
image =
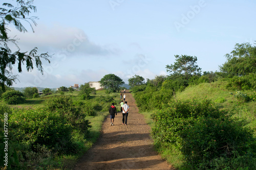
M 16 5 L 10 3 L 3 3 L 3 7 L 0 7 L 0 86 L 5 91 L 5 84 L 11 86 L 17 79 L 17 75 L 12 75 L 12 66 L 16 64 L 18 66 L 18 72 L 22 72 L 22 65 L 26 63 L 27 71 L 34 68 L 33 62 L 41 74 L 43 74 L 41 59 L 45 59 L 50 63 L 49 58 L 51 56 L 48 53 L 37 54 L 37 47 L 33 48 L 29 53 L 20 52 L 17 45 L 17 38 L 11 38 L 8 36 L 8 25 L 13 24 L 19 32 L 27 32 L 27 29 L 23 26 L 22 21 L 29 23 L 33 30 L 31 22 L 36 26 L 36 17 L 28 17 L 29 13 L 36 12 L 36 7 L 32 5 L 33 1 L 16 0 Z M 18 48 L 16 52 L 12 52 L 9 48 L 10 44 L 15 44 Z

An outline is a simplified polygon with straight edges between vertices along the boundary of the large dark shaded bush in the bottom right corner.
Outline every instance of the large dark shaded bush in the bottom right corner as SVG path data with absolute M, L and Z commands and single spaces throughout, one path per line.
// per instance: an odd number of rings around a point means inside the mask
M 247 168 L 251 156 L 256 154 L 253 130 L 242 128 L 232 119 L 198 117 L 189 118 L 186 124 L 179 133 L 180 150 L 185 156 L 185 165 L 192 169 Z M 239 165 L 232 162 L 241 157 L 251 158 Z M 256 162 L 254 168 L 255 165 Z

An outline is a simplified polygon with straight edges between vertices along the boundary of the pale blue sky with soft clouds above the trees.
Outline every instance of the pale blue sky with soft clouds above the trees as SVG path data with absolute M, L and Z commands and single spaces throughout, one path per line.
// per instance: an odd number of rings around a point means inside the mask
M 6 0 L 11 1 L 11 0 Z M 14 1 L 11 1 L 14 2 Z M 1 3 L 2 4 L 2 3 Z M 38 47 L 52 57 L 42 61 L 44 74 L 32 71 L 13 75 L 13 87 L 70 87 L 100 81 L 115 74 L 128 84 L 139 75 L 146 79 L 169 75 L 166 65 L 175 55 L 197 57 L 202 71 L 218 71 L 236 43 L 256 40 L 256 1 L 210 0 L 55 0 L 39 1 L 34 32 L 19 38 L 20 51 Z

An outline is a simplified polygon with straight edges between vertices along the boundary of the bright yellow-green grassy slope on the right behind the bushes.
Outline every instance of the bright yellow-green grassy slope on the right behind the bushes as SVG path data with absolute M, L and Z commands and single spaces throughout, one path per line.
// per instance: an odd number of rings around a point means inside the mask
M 241 126 L 249 126 L 256 129 L 256 102 L 241 103 L 233 95 L 234 90 L 226 88 L 227 82 L 218 81 L 214 83 L 202 83 L 195 86 L 188 86 L 184 91 L 176 94 L 177 99 L 211 99 L 218 103 L 220 109 L 227 109 L 233 113 L 233 117 L 238 119 Z M 243 93 L 253 93 L 253 91 L 243 91 Z M 254 92 L 255 93 L 255 92 Z M 256 131 L 254 132 L 256 136 Z

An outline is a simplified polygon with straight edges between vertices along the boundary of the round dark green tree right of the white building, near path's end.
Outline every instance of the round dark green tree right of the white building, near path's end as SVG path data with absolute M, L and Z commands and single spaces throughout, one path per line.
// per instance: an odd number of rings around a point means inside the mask
M 110 92 L 117 92 L 119 86 L 124 84 L 123 80 L 114 74 L 105 75 L 99 82 Z

